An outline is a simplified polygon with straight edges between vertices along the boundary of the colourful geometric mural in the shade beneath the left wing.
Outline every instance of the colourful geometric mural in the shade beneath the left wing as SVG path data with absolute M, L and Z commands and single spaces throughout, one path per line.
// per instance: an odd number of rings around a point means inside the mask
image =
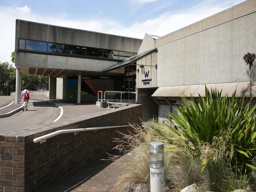
M 67 100 L 76 101 L 77 100 L 77 88 L 78 79 L 67 79 Z M 81 82 L 81 95 L 90 94 L 92 96 L 98 97 L 98 91 L 104 92 L 105 88 L 93 89 L 91 79 L 82 79 Z M 101 94 L 101 93 L 100 93 Z

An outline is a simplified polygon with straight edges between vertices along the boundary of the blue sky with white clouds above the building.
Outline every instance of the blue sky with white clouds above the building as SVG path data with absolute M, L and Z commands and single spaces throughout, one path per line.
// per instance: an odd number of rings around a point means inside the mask
M 11 63 L 15 20 L 143 39 L 163 36 L 245 0 L 0 0 L 0 62 Z

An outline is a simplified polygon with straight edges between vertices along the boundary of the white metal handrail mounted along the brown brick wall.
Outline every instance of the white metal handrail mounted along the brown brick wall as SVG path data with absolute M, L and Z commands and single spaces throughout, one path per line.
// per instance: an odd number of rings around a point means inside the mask
M 74 133 L 74 135 L 78 134 L 78 132 L 83 132 L 83 131 L 97 131 L 100 129 L 112 129 L 112 128 L 120 128 L 120 127 L 128 127 L 131 125 L 124 125 L 124 126 L 106 126 L 106 127 L 89 127 L 89 128 L 81 128 L 81 129 L 63 129 L 59 131 L 54 131 L 53 133 L 49 133 L 46 135 L 43 135 L 41 137 L 37 137 L 33 139 L 34 143 L 40 142 L 40 144 L 43 144 L 43 142 L 46 141 L 46 139 L 54 137 L 56 135 L 64 134 L 64 133 Z

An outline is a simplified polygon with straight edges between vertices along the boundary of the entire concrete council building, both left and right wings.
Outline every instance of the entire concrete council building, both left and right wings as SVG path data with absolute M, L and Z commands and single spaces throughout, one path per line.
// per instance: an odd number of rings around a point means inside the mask
M 248 0 L 162 37 L 145 34 L 143 41 L 17 20 L 16 92 L 20 72 L 49 76 L 49 98 L 95 101 L 98 90 L 136 89 L 143 120 L 165 118 L 180 97 L 203 96 L 205 85 L 249 96 L 243 56 L 256 52 L 255 18 L 256 1 Z

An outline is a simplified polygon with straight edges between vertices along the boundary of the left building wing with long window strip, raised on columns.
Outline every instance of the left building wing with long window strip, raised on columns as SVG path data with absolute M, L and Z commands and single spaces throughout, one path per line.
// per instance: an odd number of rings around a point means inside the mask
M 137 54 L 141 39 L 16 20 L 16 103 L 21 73 L 48 76 L 49 99 L 96 101 L 98 91 L 133 90 L 125 67 L 107 68 Z

